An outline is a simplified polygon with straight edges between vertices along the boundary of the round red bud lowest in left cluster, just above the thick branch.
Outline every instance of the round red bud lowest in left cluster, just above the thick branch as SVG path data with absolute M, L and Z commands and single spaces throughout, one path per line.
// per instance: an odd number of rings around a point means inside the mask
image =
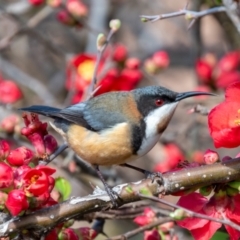
M 29 206 L 24 191 L 18 189 L 14 189 L 8 194 L 5 205 L 13 216 L 17 216 L 20 212 L 28 209 Z

